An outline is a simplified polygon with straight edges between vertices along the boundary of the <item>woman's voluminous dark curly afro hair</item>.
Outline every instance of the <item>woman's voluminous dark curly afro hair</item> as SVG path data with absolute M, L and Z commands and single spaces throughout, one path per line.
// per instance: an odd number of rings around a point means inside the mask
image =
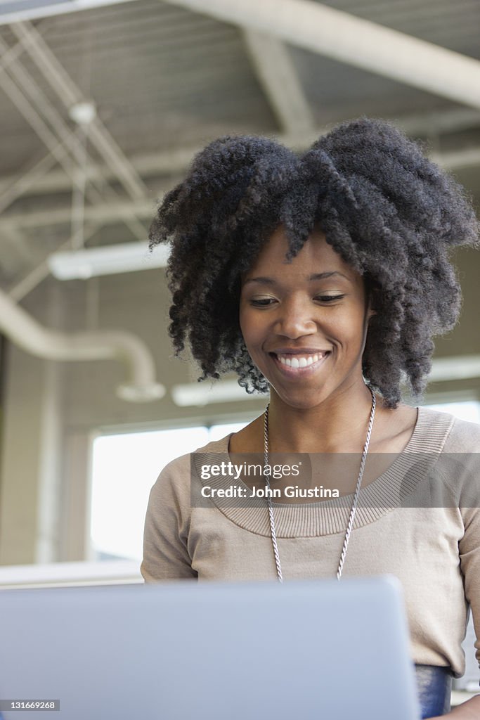
M 283 225 L 293 258 L 320 227 L 371 294 L 363 376 L 388 408 L 425 388 L 433 336 L 458 318 L 461 293 L 448 251 L 476 245 L 466 195 L 387 122 L 345 122 L 302 156 L 273 140 L 227 136 L 201 151 L 150 227 L 171 241 L 168 328 L 176 354 L 189 342 L 203 375 L 234 371 L 247 392 L 268 383 L 240 332 L 240 276 Z

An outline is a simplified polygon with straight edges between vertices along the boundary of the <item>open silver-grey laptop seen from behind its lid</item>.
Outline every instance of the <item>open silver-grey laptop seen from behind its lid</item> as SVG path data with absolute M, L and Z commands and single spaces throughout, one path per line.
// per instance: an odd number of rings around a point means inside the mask
M 420 717 L 393 577 L 4 590 L 0 698 L 5 720 Z

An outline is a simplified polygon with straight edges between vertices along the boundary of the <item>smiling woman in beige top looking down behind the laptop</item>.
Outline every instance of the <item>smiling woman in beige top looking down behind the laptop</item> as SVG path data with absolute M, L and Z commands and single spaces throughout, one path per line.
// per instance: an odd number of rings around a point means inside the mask
M 480 513 L 458 500 L 471 471 L 452 477 L 440 463 L 480 451 L 480 428 L 403 404 L 400 387 L 424 389 L 432 337 L 460 307 L 448 250 L 477 236 L 461 188 L 394 127 L 366 119 L 302 157 L 265 138 L 215 141 L 150 230 L 153 245 L 172 241 L 177 353 L 188 341 L 201 379 L 235 372 L 247 392 L 270 392 L 260 418 L 202 457 L 259 453 L 272 467 L 282 453 L 291 469 L 292 454 L 314 455 L 309 472 L 275 488 L 266 473 L 259 488 L 244 464 L 235 502 L 218 492 L 228 477 L 202 480 L 196 456 L 192 474 L 188 455 L 168 465 L 150 495 L 145 580 L 391 572 L 424 717 L 445 711 L 450 675 L 463 672 L 466 600 L 480 636 Z M 262 498 L 266 487 L 279 503 Z M 306 508 L 286 501 L 287 487 L 339 497 Z M 480 697 L 451 715 L 480 716 Z

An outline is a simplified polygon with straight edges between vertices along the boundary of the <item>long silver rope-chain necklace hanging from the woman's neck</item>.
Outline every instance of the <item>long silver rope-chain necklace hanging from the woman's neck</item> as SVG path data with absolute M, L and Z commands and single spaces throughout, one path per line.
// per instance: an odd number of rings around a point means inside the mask
M 368 390 L 371 392 L 371 412 L 370 412 L 370 420 L 368 422 L 368 429 L 367 429 L 367 435 L 365 440 L 365 445 L 363 446 L 363 454 L 362 459 L 360 463 L 360 470 L 358 472 L 358 480 L 357 485 L 355 489 L 355 494 L 353 495 L 353 503 L 352 503 L 352 509 L 350 510 L 350 517 L 348 518 L 348 525 L 347 529 L 345 531 L 345 539 L 343 540 L 343 548 L 342 553 L 340 554 L 340 562 L 338 563 L 338 570 L 337 570 L 337 580 L 340 580 L 340 577 L 342 577 L 342 571 L 343 571 L 343 564 L 345 562 L 345 557 L 347 555 L 347 548 L 348 548 L 348 541 L 350 540 L 350 533 L 353 528 L 353 521 L 355 520 L 355 513 L 357 510 L 357 503 L 358 503 L 358 495 L 360 495 L 360 487 L 362 484 L 362 477 L 363 477 L 363 470 L 365 469 L 365 463 L 366 463 L 366 457 L 368 453 L 368 446 L 370 445 L 370 438 L 371 438 L 371 431 L 373 428 L 373 418 L 375 418 L 375 408 L 376 408 L 376 398 L 369 387 Z M 265 409 L 265 416 L 263 420 L 263 456 L 264 456 L 264 466 L 266 467 L 268 465 L 268 410 L 270 408 L 270 404 L 266 406 Z M 268 473 L 263 472 L 263 477 L 265 479 L 265 484 L 268 490 L 270 490 L 270 481 L 268 480 Z M 268 519 L 270 521 L 270 535 L 271 535 L 271 541 L 272 541 L 272 547 L 273 547 L 273 557 L 275 557 L 275 565 L 276 565 L 276 575 L 278 577 L 279 582 L 284 582 L 284 577 L 281 574 L 281 563 L 280 563 L 280 554 L 279 554 L 279 546 L 276 541 L 276 530 L 275 530 L 275 517 L 273 515 L 273 503 L 271 500 L 271 492 L 267 492 L 267 504 L 268 504 Z

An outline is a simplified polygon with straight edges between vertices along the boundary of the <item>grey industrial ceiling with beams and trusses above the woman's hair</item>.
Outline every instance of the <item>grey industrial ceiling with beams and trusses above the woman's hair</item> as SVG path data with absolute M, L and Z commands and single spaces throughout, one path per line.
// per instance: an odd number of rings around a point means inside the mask
M 14 23 L 1 12 L 0 289 L 14 300 L 57 248 L 144 240 L 155 200 L 225 133 L 301 148 L 333 122 L 387 117 L 480 186 L 476 0 L 136 0 Z M 72 119 L 83 103 L 89 125 Z

